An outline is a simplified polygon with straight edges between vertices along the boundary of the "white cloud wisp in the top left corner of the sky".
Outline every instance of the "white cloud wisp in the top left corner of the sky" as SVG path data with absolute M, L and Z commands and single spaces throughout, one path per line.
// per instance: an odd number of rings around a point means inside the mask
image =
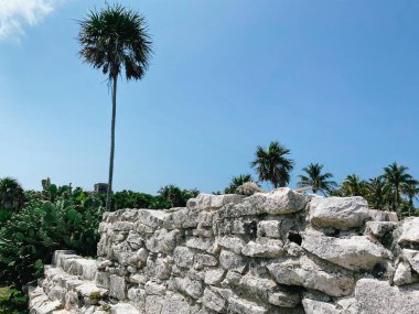
M 19 41 L 25 26 L 34 26 L 61 0 L 0 0 L 0 41 Z

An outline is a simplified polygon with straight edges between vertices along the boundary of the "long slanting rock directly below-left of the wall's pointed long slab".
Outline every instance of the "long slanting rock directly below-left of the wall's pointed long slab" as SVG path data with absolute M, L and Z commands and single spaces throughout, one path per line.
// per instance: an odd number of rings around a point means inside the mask
M 307 257 L 271 263 L 267 269 L 278 283 L 301 285 L 331 296 L 350 295 L 354 288 L 353 278 L 343 273 L 327 272 Z

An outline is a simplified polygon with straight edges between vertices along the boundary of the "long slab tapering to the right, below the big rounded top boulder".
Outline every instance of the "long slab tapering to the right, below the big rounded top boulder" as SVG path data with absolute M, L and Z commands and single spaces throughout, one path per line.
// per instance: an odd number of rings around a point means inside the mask
M 339 239 L 304 235 L 301 246 L 324 260 L 351 270 L 369 270 L 390 257 L 390 252 L 384 247 L 364 236 Z

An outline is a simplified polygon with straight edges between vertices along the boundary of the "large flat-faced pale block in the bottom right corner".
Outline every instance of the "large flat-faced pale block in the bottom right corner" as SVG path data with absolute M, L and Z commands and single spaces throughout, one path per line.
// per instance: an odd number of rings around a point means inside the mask
M 419 286 L 390 286 L 386 281 L 361 279 L 355 297 L 359 314 L 416 314 L 419 312 Z

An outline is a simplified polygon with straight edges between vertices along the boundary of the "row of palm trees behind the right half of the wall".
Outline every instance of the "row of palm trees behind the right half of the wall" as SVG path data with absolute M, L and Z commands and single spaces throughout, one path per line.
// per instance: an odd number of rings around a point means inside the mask
M 294 166 L 289 155 L 289 149 L 273 141 L 267 149 L 257 147 L 255 160 L 250 165 L 256 170 L 259 182 L 268 182 L 275 188 L 287 186 Z M 303 167 L 303 174 L 298 176 L 297 182 L 300 191 L 334 196 L 363 196 L 373 208 L 397 212 L 400 216 L 419 215 L 419 210 L 415 209 L 415 201 L 419 195 L 419 182 L 404 165 L 394 162 L 384 167 L 382 175 L 367 181 L 356 174 L 351 174 L 341 185 L 333 181 L 332 173 L 324 172 L 323 169 L 324 165 L 321 163 L 311 163 Z M 224 192 L 235 193 L 239 185 L 249 181 L 254 181 L 250 174 L 235 176 Z

